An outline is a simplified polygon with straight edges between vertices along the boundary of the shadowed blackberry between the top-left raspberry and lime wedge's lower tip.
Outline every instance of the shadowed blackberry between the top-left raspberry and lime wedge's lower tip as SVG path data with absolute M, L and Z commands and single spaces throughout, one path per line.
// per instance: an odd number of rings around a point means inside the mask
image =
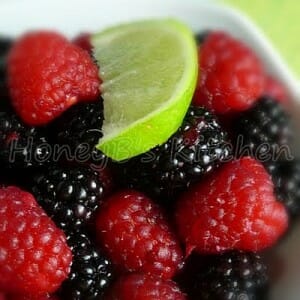
M 105 155 L 95 148 L 103 136 L 102 124 L 102 98 L 96 102 L 75 105 L 51 125 L 53 141 L 68 146 L 77 163 L 103 163 Z

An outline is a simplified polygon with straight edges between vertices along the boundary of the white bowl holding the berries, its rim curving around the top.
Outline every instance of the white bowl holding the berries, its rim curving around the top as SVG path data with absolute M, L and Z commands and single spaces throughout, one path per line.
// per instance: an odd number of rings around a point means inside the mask
M 188 23 L 195 32 L 223 29 L 244 40 L 256 51 L 268 72 L 286 86 L 298 110 L 299 81 L 262 32 L 241 13 L 207 1 L 1 0 L 0 34 L 17 36 L 29 29 L 53 28 L 73 36 L 79 32 L 98 31 L 119 22 L 162 16 L 177 17 Z M 272 289 L 272 300 L 300 299 L 299 233 L 300 226 L 278 249 L 288 272 Z

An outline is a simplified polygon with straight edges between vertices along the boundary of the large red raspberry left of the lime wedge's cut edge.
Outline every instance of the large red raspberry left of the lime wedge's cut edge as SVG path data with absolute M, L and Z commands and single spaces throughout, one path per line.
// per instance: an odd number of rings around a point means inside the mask
M 43 125 L 79 101 L 99 95 L 98 68 L 90 55 L 54 32 L 20 38 L 8 56 L 10 94 L 29 125 Z

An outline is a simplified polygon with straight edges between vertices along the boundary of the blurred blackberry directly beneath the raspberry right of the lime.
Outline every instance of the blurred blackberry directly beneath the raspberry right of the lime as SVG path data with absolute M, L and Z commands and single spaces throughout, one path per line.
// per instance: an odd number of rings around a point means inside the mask
M 288 146 L 292 138 L 289 115 L 277 100 L 270 97 L 261 98 L 252 109 L 242 113 L 233 126 L 238 137 L 237 146 L 240 147 L 242 142 L 259 160 L 264 159 L 259 155 L 271 154 L 281 146 Z

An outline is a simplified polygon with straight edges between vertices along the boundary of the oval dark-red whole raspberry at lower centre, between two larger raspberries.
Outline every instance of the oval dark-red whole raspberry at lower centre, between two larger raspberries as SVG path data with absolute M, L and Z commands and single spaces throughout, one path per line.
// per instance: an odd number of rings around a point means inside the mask
M 182 252 L 160 209 L 133 190 L 112 195 L 100 209 L 97 235 L 122 271 L 171 278 Z

